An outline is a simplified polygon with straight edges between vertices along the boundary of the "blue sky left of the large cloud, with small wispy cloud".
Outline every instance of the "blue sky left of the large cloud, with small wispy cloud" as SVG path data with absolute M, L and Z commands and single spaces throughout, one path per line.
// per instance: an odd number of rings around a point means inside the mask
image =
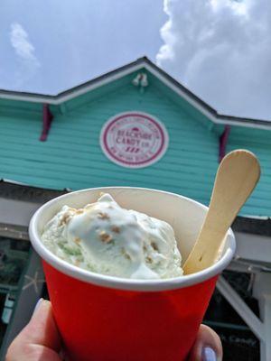
M 0 14 L 0 87 L 47 94 L 155 60 L 167 18 L 162 0 L 2 0 Z

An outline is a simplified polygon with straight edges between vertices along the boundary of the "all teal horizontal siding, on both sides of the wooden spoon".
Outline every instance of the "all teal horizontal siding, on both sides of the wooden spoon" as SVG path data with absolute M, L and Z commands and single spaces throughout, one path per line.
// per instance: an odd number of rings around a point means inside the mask
M 182 98 L 173 97 L 172 91 L 154 77 L 150 77 L 150 86 L 141 94 L 131 85 L 134 76 L 126 76 L 61 106 L 51 106 L 54 118 L 43 143 L 39 141 L 41 104 L 0 103 L 0 179 L 57 190 L 115 185 L 147 187 L 173 191 L 208 204 L 218 167 L 221 127 L 212 126 L 206 116 L 201 116 Z M 99 146 L 100 130 L 107 119 L 131 110 L 156 116 L 170 138 L 164 157 L 142 169 L 123 168 L 110 162 Z M 230 134 L 227 150 L 248 148 L 259 155 L 264 168 L 260 186 L 242 214 L 271 215 L 270 135 L 267 131 L 238 127 Z M 265 144 L 261 143 L 262 136 L 266 137 Z

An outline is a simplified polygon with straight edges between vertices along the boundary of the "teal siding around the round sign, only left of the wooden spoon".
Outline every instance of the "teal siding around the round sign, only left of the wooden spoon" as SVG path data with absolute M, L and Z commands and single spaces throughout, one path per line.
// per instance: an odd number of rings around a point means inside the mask
M 88 100 L 88 99 L 87 99 Z M 130 84 L 61 114 L 55 112 L 46 142 L 39 142 L 41 117 L 1 116 L 1 177 L 34 186 L 78 190 L 126 185 L 170 190 L 208 203 L 217 167 L 218 137 L 193 120 L 158 88 L 144 94 Z M 110 116 L 143 111 L 164 123 L 170 143 L 164 157 L 143 169 L 110 162 L 99 133 Z

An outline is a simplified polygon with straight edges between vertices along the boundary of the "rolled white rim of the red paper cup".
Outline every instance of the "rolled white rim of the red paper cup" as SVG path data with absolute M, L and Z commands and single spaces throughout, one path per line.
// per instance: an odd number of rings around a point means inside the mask
M 235 236 L 231 228 L 229 228 L 227 234 L 227 243 L 228 243 L 227 250 L 216 264 L 213 264 L 210 267 L 198 273 L 192 273 L 188 275 L 183 275 L 174 278 L 167 278 L 163 280 L 134 280 L 129 278 L 121 278 L 121 277 L 90 272 L 82 268 L 79 268 L 73 264 L 69 264 L 66 261 L 61 260 L 61 258 L 51 253 L 51 251 L 48 248 L 46 248 L 45 245 L 42 244 L 42 241 L 38 234 L 38 223 L 39 223 L 39 219 L 42 217 L 42 212 L 46 208 L 50 208 L 52 204 L 57 203 L 60 199 L 64 199 L 65 197 L 68 197 L 71 194 L 74 194 L 76 196 L 76 194 L 78 193 L 88 192 L 89 190 L 122 190 L 122 189 L 149 190 L 158 193 L 164 193 L 174 197 L 179 197 L 181 199 L 188 200 L 194 204 L 197 204 L 197 206 L 202 209 L 208 209 L 208 207 L 202 205 L 200 202 L 197 202 L 196 200 L 164 190 L 152 190 L 152 189 L 138 188 L 138 187 L 98 187 L 98 188 L 90 188 L 86 190 L 76 190 L 49 200 L 48 202 L 43 204 L 42 207 L 38 208 L 36 212 L 33 214 L 33 217 L 31 218 L 29 225 L 29 236 L 34 250 L 37 252 L 38 255 L 42 257 L 42 260 L 44 260 L 47 264 L 50 264 L 53 268 L 57 269 L 61 273 L 69 275 L 72 278 L 78 279 L 79 281 L 82 282 L 95 284 L 101 287 L 113 288 L 117 290 L 126 290 L 126 291 L 158 292 L 158 291 L 170 291 L 170 290 L 181 289 L 183 287 L 188 287 L 188 286 L 192 286 L 193 284 L 207 281 L 210 278 L 221 273 L 227 267 L 227 265 L 233 258 L 236 249 Z

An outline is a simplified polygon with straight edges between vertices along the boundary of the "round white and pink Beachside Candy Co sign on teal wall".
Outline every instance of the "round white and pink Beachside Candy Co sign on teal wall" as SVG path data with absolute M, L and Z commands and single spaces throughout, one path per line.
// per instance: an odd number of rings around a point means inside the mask
M 112 162 L 128 168 L 143 168 L 164 155 L 168 134 L 154 116 L 128 112 L 107 121 L 101 130 L 100 145 Z

